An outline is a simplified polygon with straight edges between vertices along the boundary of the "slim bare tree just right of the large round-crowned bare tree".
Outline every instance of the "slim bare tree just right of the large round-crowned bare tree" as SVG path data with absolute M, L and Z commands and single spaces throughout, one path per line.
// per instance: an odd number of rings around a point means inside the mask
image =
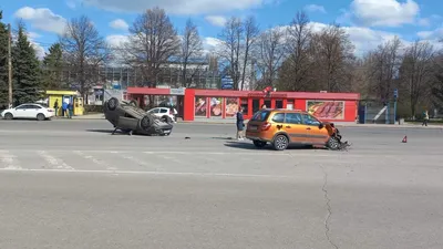
M 190 19 L 187 20 L 182 38 L 182 85 L 189 87 L 187 83 L 187 65 L 192 59 L 200 59 L 203 54 L 203 42 L 197 25 Z M 198 68 L 199 69 L 199 68 Z M 198 71 L 194 70 L 194 73 Z

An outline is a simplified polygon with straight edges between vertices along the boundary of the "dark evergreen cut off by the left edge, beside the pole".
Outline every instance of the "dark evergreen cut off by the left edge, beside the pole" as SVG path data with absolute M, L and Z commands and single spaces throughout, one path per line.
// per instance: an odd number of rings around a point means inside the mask
M 0 108 L 8 103 L 8 28 L 0 10 Z

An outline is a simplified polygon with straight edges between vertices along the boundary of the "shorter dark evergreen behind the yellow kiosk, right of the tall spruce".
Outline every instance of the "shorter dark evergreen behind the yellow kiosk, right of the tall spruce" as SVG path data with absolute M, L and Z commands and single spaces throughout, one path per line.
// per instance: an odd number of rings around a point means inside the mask
M 49 48 L 49 53 L 43 59 L 42 87 L 44 90 L 61 90 L 63 73 L 63 52 L 60 43 Z

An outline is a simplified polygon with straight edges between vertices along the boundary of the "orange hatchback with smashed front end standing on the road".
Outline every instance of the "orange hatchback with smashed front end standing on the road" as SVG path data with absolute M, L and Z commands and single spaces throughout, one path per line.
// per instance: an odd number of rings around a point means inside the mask
M 289 145 L 313 145 L 340 148 L 341 135 L 333 123 L 323 123 L 307 112 L 296 110 L 261 110 L 248 122 L 246 138 L 257 147 L 270 143 L 284 151 Z

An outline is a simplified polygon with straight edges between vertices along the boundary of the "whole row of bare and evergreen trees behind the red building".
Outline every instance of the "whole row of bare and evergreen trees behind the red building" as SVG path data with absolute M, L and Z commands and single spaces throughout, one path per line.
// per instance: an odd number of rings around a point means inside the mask
M 0 12 L 1 13 L 1 12 Z M 189 19 L 177 30 L 165 10 L 138 14 L 127 41 L 110 46 L 92 21 L 82 15 L 66 23 L 64 33 L 39 61 L 25 27 L 19 23 L 12 44 L 14 103 L 35 101 L 45 89 L 76 87 L 85 95 L 100 81 L 97 69 L 117 62 L 136 70 L 141 86 L 155 87 L 174 63 L 181 86 L 190 87 L 203 70 L 189 66 L 204 58 L 198 27 Z M 423 108 L 441 108 L 443 56 L 427 41 L 402 44 L 399 38 L 357 56 L 346 29 L 337 23 L 315 30 L 299 11 L 282 27 L 262 29 L 254 17 L 230 18 L 212 51 L 217 73 L 233 79 L 234 89 L 359 92 L 362 100 L 390 102 L 399 92 L 399 114 L 413 117 Z M 0 103 L 8 98 L 8 30 L 0 14 Z M 72 82 L 62 77 L 69 69 Z

